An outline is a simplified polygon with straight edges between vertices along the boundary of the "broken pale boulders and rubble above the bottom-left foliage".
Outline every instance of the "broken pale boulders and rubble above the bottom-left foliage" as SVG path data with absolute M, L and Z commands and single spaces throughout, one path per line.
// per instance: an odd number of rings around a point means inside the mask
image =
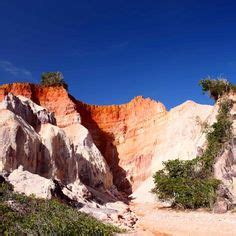
M 0 181 L 9 182 L 15 192 L 43 199 L 56 197 L 106 223 L 130 230 L 137 221 L 127 204 L 115 198 L 111 201 L 111 196 L 96 192 L 95 189 L 91 191 L 88 186 L 78 180 L 72 184 L 63 185 L 56 180 L 24 171 L 23 166 L 19 166 L 8 177 L 3 178 L 1 175 L 0 177 Z

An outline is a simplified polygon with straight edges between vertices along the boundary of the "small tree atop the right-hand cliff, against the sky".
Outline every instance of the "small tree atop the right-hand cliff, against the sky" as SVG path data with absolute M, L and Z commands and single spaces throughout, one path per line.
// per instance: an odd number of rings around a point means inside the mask
M 223 94 L 228 93 L 232 88 L 232 85 L 222 77 L 216 79 L 207 77 L 200 80 L 199 85 L 202 86 L 202 91 L 204 93 L 208 92 L 210 97 L 215 101 L 217 101 Z

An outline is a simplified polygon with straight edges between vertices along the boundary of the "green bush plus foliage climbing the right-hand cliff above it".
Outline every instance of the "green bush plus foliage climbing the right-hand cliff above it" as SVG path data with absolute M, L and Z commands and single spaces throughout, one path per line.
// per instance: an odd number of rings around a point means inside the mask
M 206 83 L 205 83 L 206 82 Z M 228 82 L 205 81 L 204 89 L 210 87 L 210 94 L 217 98 L 227 93 Z M 207 148 L 201 156 L 193 160 L 170 160 L 164 162 L 164 168 L 154 175 L 155 188 L 153 192 L 160 200 L 172 201 L 173 207 L 199 208 L 211 207 L 216 200 L 216 190 L 219 180 L 213 178 L 215 158 L 224 150 L 225 144 L 232 138 L 232 122 L 230 110 L 232 101 L 222 98 L 219 103 L 217 121 L 207 127 Z

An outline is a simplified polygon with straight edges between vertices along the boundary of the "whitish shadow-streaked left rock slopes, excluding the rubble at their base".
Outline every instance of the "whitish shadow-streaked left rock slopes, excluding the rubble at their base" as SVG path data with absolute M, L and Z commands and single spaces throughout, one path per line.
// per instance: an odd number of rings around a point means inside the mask
M 43 113 L 41 112 L 43 111 Z M 0 103 L 0 171 L 24 170 L 63 184 L 112 186 L 109 167 L 86 128 L 55 126 L 46 109 L 9 93 Z M 73 132 L 76 138 L 71 139 Z M 67 136 L 68 133 L 68 136 Z

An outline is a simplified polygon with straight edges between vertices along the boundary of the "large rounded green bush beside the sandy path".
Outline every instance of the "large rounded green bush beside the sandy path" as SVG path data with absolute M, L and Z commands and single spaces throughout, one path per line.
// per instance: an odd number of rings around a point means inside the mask
M 164 170 L 154 175 L 156 187 L 153 192 L 160 200 L 172 201 L 172 207 L 190 209 L 211 207 L 215 202 L 216 189 L 220 181 L 213 178 L 191 177 L 194 174 L 190 174 L 187 170 L 188 161 L 179 161 L 179 164 L 180 169 L 176 168 L 176 163 L 172 161 L 164 163 Z M 167 166 L 174 166 L 174 172 L 168 172 Z

